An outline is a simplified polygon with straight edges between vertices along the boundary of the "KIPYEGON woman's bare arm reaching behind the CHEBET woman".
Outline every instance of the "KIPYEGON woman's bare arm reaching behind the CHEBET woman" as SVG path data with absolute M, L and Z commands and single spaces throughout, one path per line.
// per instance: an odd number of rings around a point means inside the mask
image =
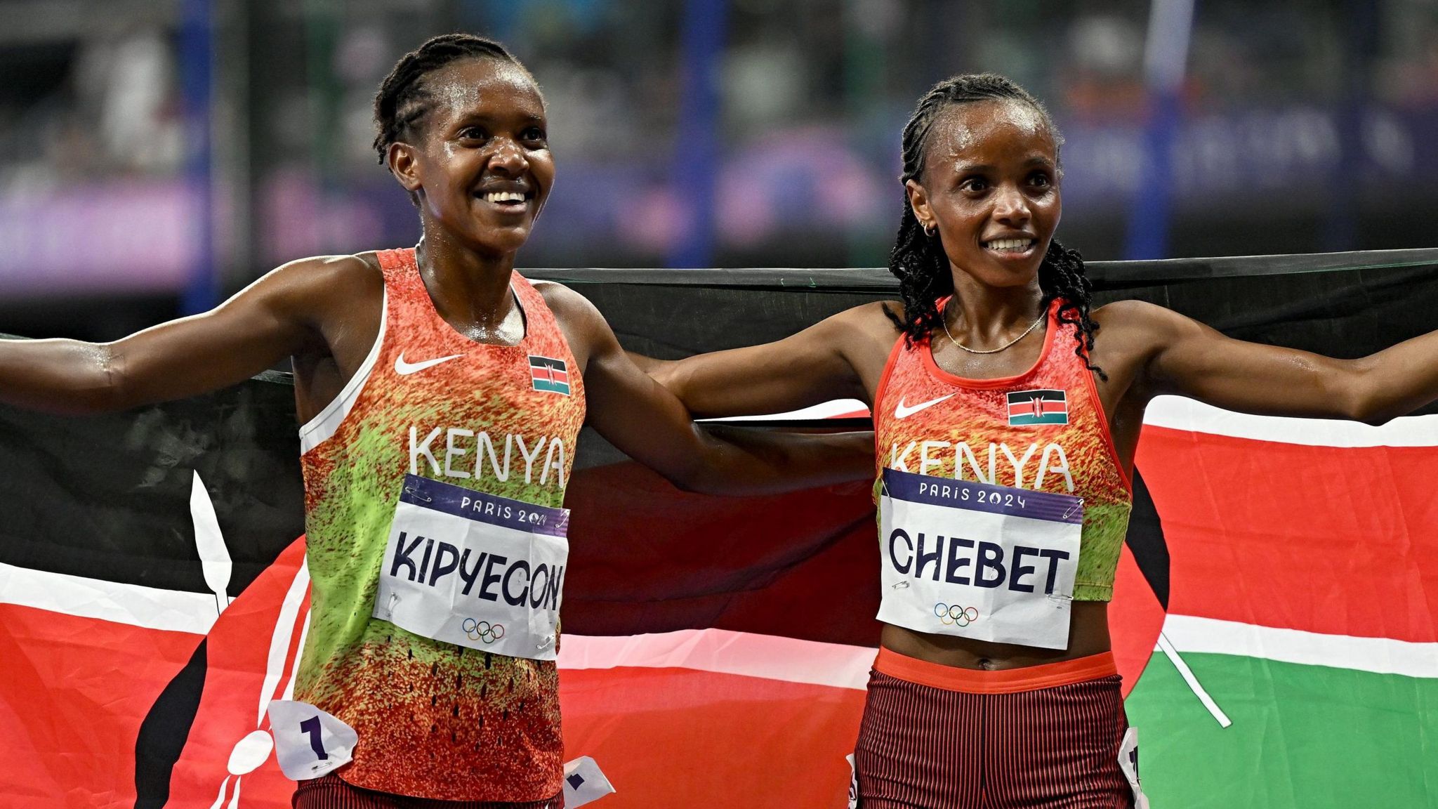
M 768 494 L 873 476 L 873 433 L 706 429 L 620 347 L 603 315 L 555 289 L 571 343 L 585 351 L 588 423 L 674 485 L 710 494 Z

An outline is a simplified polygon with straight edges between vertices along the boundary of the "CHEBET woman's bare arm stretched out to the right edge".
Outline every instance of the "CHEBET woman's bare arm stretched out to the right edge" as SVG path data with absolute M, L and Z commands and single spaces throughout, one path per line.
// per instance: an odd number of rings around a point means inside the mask
M 1368 423 L 1438 399 L 1438 331 L 1363 358 L 1336 360 L 1234 340 L 1137 301 L 1104 309 L 1114 309 L 1104 321 L 1116 321 L 1119 330 L 1148 343 L 1142 373 L 1153 393 L 1178 393 L 1245 413 Z

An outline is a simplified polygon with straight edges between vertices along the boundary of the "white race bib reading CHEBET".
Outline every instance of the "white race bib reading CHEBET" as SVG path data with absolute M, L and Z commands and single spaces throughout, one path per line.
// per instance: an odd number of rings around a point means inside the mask
M 1083 500 L 884 469 L 879 620 L 1068 646 Z

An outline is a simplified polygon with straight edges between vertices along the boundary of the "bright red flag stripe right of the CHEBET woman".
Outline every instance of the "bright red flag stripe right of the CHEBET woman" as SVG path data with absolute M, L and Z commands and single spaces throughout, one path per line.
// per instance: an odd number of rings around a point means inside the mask
M 1169 612 L 1438 641 L 1434 446 L 1304 446 L 1143 428 Z

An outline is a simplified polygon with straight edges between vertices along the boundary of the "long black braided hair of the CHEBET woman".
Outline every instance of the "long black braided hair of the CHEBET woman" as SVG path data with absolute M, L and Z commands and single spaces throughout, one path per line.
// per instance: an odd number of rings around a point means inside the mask
M 900 183 L 919 181 L 923 174 L 929 131 L 939 114 L 952 105 L 979 101 L 1028 104 L 1038 111 L 1055 147 L 1063 145 L 1064 140 L 1058 127 L 1054 125 L 1044 105 L 1028 91 L 997 73 L 963 73 L 933 85 L 933 89 L 919 99 L 913 115 L 905 124 Z M 943 253 L 939 235 L 930 236 L 919 225 L 919 219 L 909 206 L 907 190 L 903 197 L 899 236 L 889 253 L 889 272 L 899 278 L 899 295 L 903 298 L 903 317 L 886 309 L 889 318 L 903 330 L 909 344 L 928 340 L 933 330 L 943 322 L 938 299 L 953 294 L 953 276 L 949 275 L 949 258 Z M 1084 361 L 1089 370 L 1099 374 L 1099 379 L 1107 380 L 1109 376 L 1089 361 L 1089 351 L 1093 350 L 1093 335 L 1099 331 L 1099 324 L 1089 317 L 1093 285 L 1084 275 L 1083 256 L 1078 255 L 1078 250 L 1063 246 L 1058 239 L 1050 239 L 1048 252 L 1044 253 L 1044 261 L 1038 265 L 1038 288 L 1044 295 L 1041 311 L 1047 311 L 1054 299 L 1063 301 L 1058 305 L 1058 321 L 1078 327 L 1074 335 L 1078 341 L 1074 354 Z

